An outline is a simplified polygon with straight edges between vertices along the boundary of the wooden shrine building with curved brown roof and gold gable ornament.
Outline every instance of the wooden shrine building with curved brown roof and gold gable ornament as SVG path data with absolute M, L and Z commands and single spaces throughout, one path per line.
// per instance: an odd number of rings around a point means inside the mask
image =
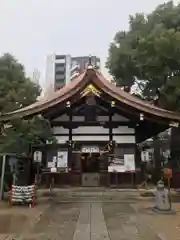
M 0 121 L 41 114 L 57 144 L 37 146 L 45 175 L 55 183 L 108 186 L 137 181 L 137 144 L 170 126 L 180 115 L 140 100 L 107 81 L 91 64 L 52 96 L 0 116 Z

